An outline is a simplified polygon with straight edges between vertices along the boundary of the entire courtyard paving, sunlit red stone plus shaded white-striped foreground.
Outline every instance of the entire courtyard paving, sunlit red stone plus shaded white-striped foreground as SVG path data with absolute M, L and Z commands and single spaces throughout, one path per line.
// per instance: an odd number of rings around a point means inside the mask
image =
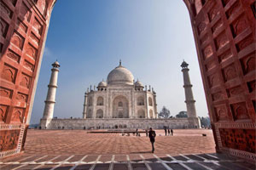
M 155 152 L 141 137 L 84 130 L 29 130 L 23 154 L 0 160 L 0 169 L 255 169 L 243 160 L 215 153 L 212 131 L 157 130 Z M 207 136 L 202 136 L 202 133 Z

